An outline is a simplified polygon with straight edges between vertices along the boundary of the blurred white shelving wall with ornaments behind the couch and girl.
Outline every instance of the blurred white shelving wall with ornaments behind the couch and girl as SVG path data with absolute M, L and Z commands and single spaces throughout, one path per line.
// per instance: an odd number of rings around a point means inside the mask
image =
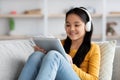
M 120 45 L 119 0 L 0 0 L 0 39 L 30 36 L 66 37 L 65 13 L 86 7 L 92 15 L 93 41 Z

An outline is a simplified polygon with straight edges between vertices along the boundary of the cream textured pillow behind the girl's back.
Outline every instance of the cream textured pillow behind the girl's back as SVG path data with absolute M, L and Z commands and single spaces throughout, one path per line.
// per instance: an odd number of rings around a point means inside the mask
M 101 51 L 99 80 L 111 80 L 116 41 L 98 42 Z

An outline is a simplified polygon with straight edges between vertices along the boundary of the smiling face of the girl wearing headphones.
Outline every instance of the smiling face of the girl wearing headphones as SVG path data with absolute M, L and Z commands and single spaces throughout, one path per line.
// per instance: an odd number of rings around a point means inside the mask
M 85 23 L 76 14 L 70 14 L 66 18 L 65 30 L 67 36 L 73 41 L 83 39 L 85 35 Z

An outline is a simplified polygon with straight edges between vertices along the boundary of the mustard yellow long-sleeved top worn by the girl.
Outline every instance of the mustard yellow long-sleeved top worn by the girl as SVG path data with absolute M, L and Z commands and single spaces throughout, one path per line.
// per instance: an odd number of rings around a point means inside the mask
M 64 44 L 64 41 L 62 41 Z M 70 50 L 69 55 L 73 58 L 77 50 Z M 92 43 L 91 49 L 85 56 L 80 68 L 75 64 L 72 65 L 74 71 L 78 74 L 81 80 L 99 80 L 100 69 L 100 48 L 97 44 Z

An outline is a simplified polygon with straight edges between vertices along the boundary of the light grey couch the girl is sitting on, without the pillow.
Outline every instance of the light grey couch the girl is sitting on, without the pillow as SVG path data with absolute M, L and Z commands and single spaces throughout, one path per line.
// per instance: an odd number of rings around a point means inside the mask
M 33 45 L 31 39 L 0 40 L 0 80 L 17 80 Z M 115 47 L 114 54 L 111 80 L 120 80 L 120 47 Z

